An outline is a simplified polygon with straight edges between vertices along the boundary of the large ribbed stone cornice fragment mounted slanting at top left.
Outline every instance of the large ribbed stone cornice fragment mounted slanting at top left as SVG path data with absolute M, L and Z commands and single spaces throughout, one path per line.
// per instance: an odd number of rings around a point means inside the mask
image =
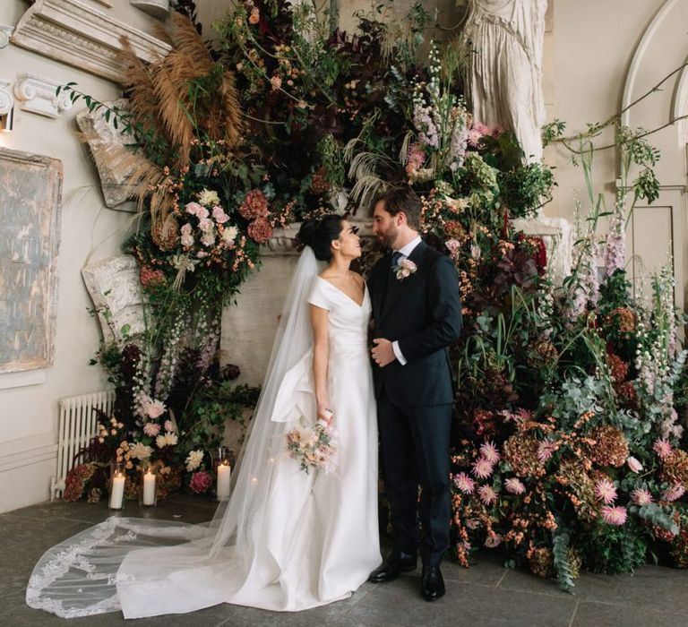
M 136 56 L 144 61 L 165 56 L 171 49 L 164 41 L 80 0 L 37 0 L 22 15 L 11 41 L 118 82 L 122 70 L 117 60 L 121 37 L 129 39 Z

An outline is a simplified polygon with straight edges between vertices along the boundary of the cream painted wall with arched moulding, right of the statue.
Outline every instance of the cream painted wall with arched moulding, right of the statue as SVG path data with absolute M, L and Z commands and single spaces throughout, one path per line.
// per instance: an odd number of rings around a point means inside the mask
M 638 99 L 688 57 L 688 3 L 684 0 L 554 0 L 553 39 L 546 48 L 547 81 L 554 98 L 550 119 L 567 122 L 566 134 L 584 131 L 586 123 L 600 122 Z M 680 88 L 684 87 L 682 91 Z M 624 91 L 628 90 L 624 99 Z M 683 100 L 682 100 L 683 98 Z M 675 106 L 679 100 L 682 105 Z M 674 76 L 662 88 L 632 107 L 624 124 L 657 128 L 673 116 L 688 114 L 688 73 Z M 626 233 L 627 269 L 646 276 L 667 253 L 674 257 L 675 302 L 688 303 L 688 228 L 686 227 L 685 122 L 668 125 L 649 137 L 661 150 L 656 173 L 661 185 L 657 202 L 636 209 Z M 613 141 L 611 132 L 600 138 Z M 612 207 L 617 176 L 615 150 L 598 155 L 594 167 L 597 192 Z M 587 201 L 580 167 L 561 147 L 550 148 L 546 159 L 557 167 L 559 187 L 549 215 L 572 219 L 574 194 Z M 587 209 L 586 206 L 584 207 Z

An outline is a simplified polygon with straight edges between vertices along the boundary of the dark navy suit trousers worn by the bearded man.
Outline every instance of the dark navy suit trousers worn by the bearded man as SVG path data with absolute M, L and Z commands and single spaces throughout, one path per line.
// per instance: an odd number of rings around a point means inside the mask
M 395 548 L 416 554 L 419 517 L 421 559 L 426 566 L 439 566 L 450 540 L 452 405 L 402 408 L 383 386 L 377 417 Z

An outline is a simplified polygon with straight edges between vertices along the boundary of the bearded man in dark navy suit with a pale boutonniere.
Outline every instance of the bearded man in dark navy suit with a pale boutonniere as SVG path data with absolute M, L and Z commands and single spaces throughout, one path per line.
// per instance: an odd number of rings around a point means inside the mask
M 434 601 L 444 594 L 440 563 L 449 546 L 451 517 L 453 386 L 447 348 L 459 339 L 461 305 L 452 262 L 418 235 L 420 214 L 421 203 L 409 188 L 392 189 L 374 204 L 374 234 L 391 251 L 375 264 L 368 291 L 373 299 L 371 354 L 394 550 L 370 580 L 389 581 L 414 571 L 419 549 L 421 594 Z

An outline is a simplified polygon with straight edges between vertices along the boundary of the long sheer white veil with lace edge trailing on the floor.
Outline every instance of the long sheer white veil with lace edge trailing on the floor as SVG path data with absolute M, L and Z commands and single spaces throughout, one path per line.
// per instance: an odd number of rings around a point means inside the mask
M 274 513 L 266 509 L 280 480 L 282 466 L 274 462 L 294 414 L 280 389 L 284 391 L 285 377 L 312 346 L 306 298 L 320 269 L 306 247 L 288 288 L 231 497 L 219 504 L 211 523 L 108 518 L 41 557 L 27 587 L 29 606 L 64 618 L 120 609 L 126 618 L 184 613 L 254 591 L 246 588 L 257 581 L 270 583 L 276 571 L 266 563 L 276 563 L 279 574 L 279 555 L 264 560 L 256 555 L 270 545 L 262 536 L 262 519 Z M 302 483 L 295 484 L 292 477 L 289 485 L 307 494 L 307 476 L 295 477 Z

